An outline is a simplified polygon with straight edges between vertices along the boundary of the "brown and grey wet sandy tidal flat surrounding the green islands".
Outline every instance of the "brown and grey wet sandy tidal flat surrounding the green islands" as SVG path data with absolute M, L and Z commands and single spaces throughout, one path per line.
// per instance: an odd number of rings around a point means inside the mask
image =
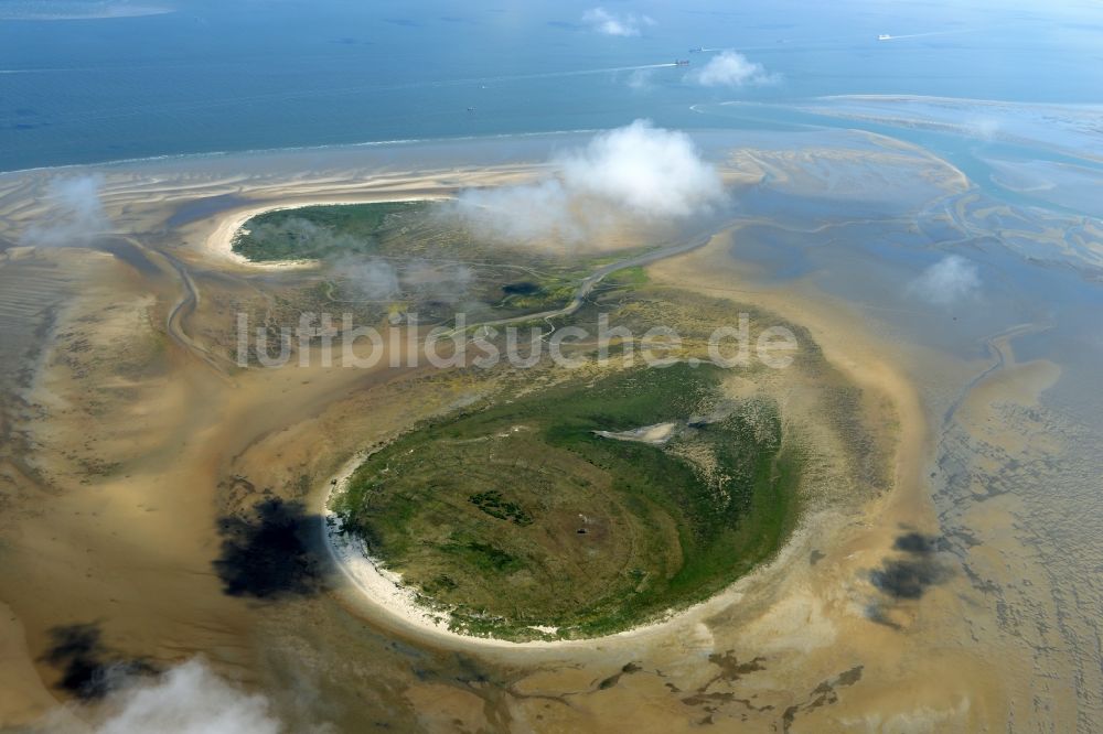
M 58 700 L 95 716 L 98 673 L 194 655 L 266 692 L 295 730 L 1097 720 L 1100 515 L 1084 508 L 1103 411 L 1088 390 L 1100 349 L 1083 314 L 1099 298 L 1092 248 L 1078 245 L 1097 224 L 989 201 L 985 182 L 912 143 L 757 136 L 700 137 L 747 208 L 595 299 L 640 323 L 673 303 L 683 326 L 748 305 L 794 326 L 823 365 L 759 382 L 781 415 L 807 417 L 793 424 L 821 447 L 802 473 L 801 521 L 768 562 L 664 624 L 545 647 L 405 624 L 335 573 L 320 543 L 329 481 L 350 458 L 488 400 L 507 376 L 386 360 L 237 366 L 233 314 L 291 323 L 326 273 L 233 259 L 227 223 L 532 181 L 563 137 L 82 169 L 101 176 L 128 258 L 100 241 L 19 246 L 55 174 L 0 176 L 0 328 L 6 345 L 25 345 L 4 354 L 0 721 L 75 715 L 56 713 Z M 807 237 L 778 236 L 791 258 L 759 241 L 794 228 Z M 821 236 L 836 229 L 843 239 Z M 868 257 L 847 259 L 844 239 Z M 950 253 L 942 242 L 979 263 L 979 305 L 909 292 Z M 1020 296 L 1028 282 L 1046 309 Z M 633 305 L 628 292 L 649 295 Z M 727 389 L 746 399 L 757 379 L 737 370 Z M 839 476 L 853 492 L 835 492 Z M 522 527 L 513 518 L 534 510 L 499 492 L 470 493 L 481 499 L 465 497 L 464 511 Z

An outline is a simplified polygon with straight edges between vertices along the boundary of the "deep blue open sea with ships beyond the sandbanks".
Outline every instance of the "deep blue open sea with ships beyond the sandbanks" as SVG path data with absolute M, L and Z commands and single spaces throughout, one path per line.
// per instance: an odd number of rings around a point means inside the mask
M 634 35 L 585 22 L 596 4 L 0 0 L 0 171 L 638 117 L 747 125 L 690 109 L 733 99 L 1103 89 L 1097 2 L 607 3 Z M 773 82 L 695 84 L 715 53 L 696 47 L 736 50 Z

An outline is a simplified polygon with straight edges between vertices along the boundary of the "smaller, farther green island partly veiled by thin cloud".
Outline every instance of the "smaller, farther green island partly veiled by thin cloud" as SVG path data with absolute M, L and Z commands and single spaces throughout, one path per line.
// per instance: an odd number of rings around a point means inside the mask
M 313 260 L 323 279 L 290 310 L 341 306 L 372 317 L 416 311 L 422 323 L 453 306 L 501 317 L 566 304 L 576 283 L 608 258 L 563 258 L 484 241 L 433 202 L 334 204 L 274 209 L 234 236 L 255 262 Z

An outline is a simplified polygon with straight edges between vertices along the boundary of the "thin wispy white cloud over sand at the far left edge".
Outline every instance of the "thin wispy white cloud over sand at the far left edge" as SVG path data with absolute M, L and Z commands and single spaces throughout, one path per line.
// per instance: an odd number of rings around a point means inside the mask
M 38 247 L 83 247 L 110 227 L 99 201 L 103 179 L 95 175 L 53 179 L 44 201 L 49 207 L 41 224 L 23 233 L 20 242 Z

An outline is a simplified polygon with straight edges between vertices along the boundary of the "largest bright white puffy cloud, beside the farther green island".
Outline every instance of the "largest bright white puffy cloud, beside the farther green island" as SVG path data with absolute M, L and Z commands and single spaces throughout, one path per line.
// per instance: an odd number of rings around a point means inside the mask
M 574 242 L 611 218 L 676 219 L 707 211 L 725 196 L 719 174 L 688 136 L 647 120 L 599 133 L 550 162 L 554 177 L 461 193 L 458 213 L 497 238 L 550 236 Z

